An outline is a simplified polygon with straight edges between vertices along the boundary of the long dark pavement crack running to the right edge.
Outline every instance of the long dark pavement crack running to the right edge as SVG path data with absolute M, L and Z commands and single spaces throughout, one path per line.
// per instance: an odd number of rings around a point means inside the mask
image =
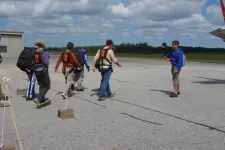
M 178 117 L 178 116 L 175 116 L 175 115 L 164 113 L 164 112 L 161 112 L 161 111 L 158 111 L 158 110 L 154 110 L 154 109 L 147 108 L 147 107 L 144 107 L 144 106 L 140 106 L 140 105 L 137 105 L 137 104 L 133 104 L 133 103 L 130 103 L 130 102 L 122 101 L 122 100 L 119 100 L 119 99 L 112 98 L 111 100 L 119 101 L 119 102 L 122 102 L 122 103 L 126 103 L 126 104 L 129 104 L 129 105 L 133 105 L 133 106 L 140 107 L 140 108 L 143 108 L 143 109 L 147 109 L 147 110 L 150 110 L 150 111 L 154 111 L 154 112 L 157 112 L 157 113 L 160 113 L 160 114 L 164 114 L 164 115 L 167 115 L 167 116 L 170 116 L 170 117 L 174 117 L 176 119 L 183 120 L 183 121 L 186 121 L 186 122 L 189 122 L 189 123 L 193 123 L 193 124 L 196 124 L 196 125 L 199 125 L 199 126 L 204 126 L 204 127 L 209 128 L 209 130 L 216 130 L 216 131 L 225 133 L 224 130 L 220 130 L 220 129 L 216 128 L 216 127 L 209 126 L 209 125 L 206 125 L 206 124 L 203 124 L 203 123 L 198 123 L 198 122 L 195 122 L 195 121 L 191 121 L 191 120 L 184 119 L 184 118 L 181 118 L 181 117 Z

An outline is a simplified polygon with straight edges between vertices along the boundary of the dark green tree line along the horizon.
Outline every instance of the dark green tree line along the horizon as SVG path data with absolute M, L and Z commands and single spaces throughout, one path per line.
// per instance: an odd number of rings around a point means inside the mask
M 98 49 L 103 48 L 104 45 L 99 46 L 82 46 L 84 47 L 88 53 L 96 53 Z M 80 49 L 80 46 L 74 47 L 73 51 Z M 185 53 L 225 53 L 224 48 L 205 48 L 205 47 L 187 47 L 180 46 L 180 48 Z M 171 47 L 168 47 L 171 49 Z M 61 52 L 65 50 L 65 47 L 48 47 L 46 48 L 49 52 Z M 154 47 L 148 45 L 148 43 L 122 43 L 120 45 L 115 45 L 116 53 L 133 53 L 133 54 L 158 54 L 161 53 L 161 46 Z

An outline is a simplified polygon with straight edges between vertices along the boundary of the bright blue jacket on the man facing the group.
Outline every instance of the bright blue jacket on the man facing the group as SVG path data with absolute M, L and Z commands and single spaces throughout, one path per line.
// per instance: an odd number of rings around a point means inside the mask
M 176 48 L 172 52 L 164 51 L 164 57 L 171 62 L 172 66 L 181 69 L 183 66 L 183 51 Z

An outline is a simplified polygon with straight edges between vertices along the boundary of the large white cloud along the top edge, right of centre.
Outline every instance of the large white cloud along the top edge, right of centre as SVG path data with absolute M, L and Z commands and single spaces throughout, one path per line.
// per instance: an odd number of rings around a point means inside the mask
M 206 0 L 134 0 L 125 7 L 123 3 L 109 5 L 108 11 L 116 17 L 140 17 L 154 21 L 174 20 L 199 13 Z M 187 7 L 188 6 L 188 7 Z

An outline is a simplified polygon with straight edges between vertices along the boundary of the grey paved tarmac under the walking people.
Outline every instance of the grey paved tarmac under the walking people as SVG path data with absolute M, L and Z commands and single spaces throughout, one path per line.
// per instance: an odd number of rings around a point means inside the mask
M 92 58 L 90 57 L 90 64 Z M 167 61 L 117 58 L 110 84 L 116 96 L 99 102 L 96 89 L 100 73 L 85 72 L 84 92 L 75 91 L 68 100 L 75 118 L 61 120 L 58 109 L 65 100 L 53 89 L 63 91 L 61 66 L 53 73 L 47 97 L 52 104 L 41 109 L 15 92 L 20 73 L 15 58 L 3 58 L 0 77 L 10 77 L 12 108 L 6 108 L 3 145 L 24 150 L 217 150 L 225 149 L 225 66 L 189 63 L 180 74 L 181 95 L 170 98 L 172 76 Z M 187 60 L 188 61 L 188 60 Z M 56 57 L 51 57 L 54 67 Z M 25 77 L 26 78 L 26 77 Z M 26 87 L 27 81 L 22 83 Z M 5 84 L 1 80 L 5 92 Z M 39 86 L 36 86 L 38 92 Z M 0 108 L 2 124 L 3 107 Z M 0 127 L 1 127 L 0 124 Z M 1 129 L 1 128 L 0 128 Z M 1 131 L 1 130 L 0 130 Z

